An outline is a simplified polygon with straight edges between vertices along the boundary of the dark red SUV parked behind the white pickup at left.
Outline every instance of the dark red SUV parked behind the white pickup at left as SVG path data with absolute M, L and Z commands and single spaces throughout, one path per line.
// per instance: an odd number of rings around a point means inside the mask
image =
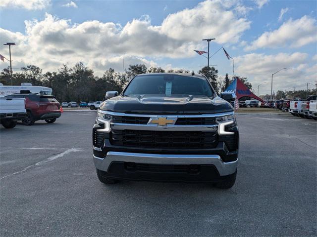
M 27 117 L 22 119 L 24 125 L 33 125 L 37 120 L 45 120 L 53 123 L 62 112 L 59 102 L 52 95 L 40 95 L 34 93 L 20 93 L 7 95 L 10 98 L 25 98 Z

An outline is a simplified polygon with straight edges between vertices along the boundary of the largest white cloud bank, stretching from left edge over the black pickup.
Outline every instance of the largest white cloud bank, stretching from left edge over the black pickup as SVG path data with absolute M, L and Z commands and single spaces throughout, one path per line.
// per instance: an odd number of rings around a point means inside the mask
M 239 17 L 233 8 L 234 5 L 218 0 L 206 1 L 169 14 L 159 26 L 152 25 L 149 16 L 121 26 L 96 20 L 72 24 L 46 14 L 41 21 L 25 21 L 25 34 L 0 29 L 0 38 L 16 42 L 12 48 L 15 68 L 35 64 L 52 71 L 63 63 L 82 61 L 102 74 L 109 67 L 121 71 L 123 53 L 126 65 L 143 62 L 152 66 L 156 58 L 196 56 L 193 50 L 206 46 L 202 42 L 205 37 L 216 36 L 218 42 L 228 45 L 237 42 L 250 22 Z M 0 51 L 5 50 L 1 44 Z

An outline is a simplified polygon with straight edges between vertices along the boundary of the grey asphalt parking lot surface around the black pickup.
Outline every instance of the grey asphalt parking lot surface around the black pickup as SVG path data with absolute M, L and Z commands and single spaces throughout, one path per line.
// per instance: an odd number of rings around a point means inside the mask
M 209 184 L 100 183 L 96 113 L 0 128 L 0 236 L 316 236 L 317 122 L 237 115 L 230 190 Z

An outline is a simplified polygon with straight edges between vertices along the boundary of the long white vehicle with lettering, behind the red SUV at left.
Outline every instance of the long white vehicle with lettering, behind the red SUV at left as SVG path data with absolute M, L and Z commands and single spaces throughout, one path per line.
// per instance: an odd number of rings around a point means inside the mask
M 14 93 L 31 92 L 41 95 L 52 95 L 52 88 L 45 86 L 34 86 L 31 83 L 21 83 L 21 85 L 2 85 L 0 84 L 0 97 Z

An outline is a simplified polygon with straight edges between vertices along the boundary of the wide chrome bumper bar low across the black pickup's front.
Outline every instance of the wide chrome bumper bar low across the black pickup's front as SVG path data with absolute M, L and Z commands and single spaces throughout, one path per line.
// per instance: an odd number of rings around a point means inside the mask
M 160 155 L 143 153 L 108 152 L 106 158 L 94 156 L 97 169 L 107 171 L 112 161 L 136 162 L 146 164 L 213 164 L 220 176 L 233 174 L 237 169 L 238 159 L 223 162 L 218 155 Z

